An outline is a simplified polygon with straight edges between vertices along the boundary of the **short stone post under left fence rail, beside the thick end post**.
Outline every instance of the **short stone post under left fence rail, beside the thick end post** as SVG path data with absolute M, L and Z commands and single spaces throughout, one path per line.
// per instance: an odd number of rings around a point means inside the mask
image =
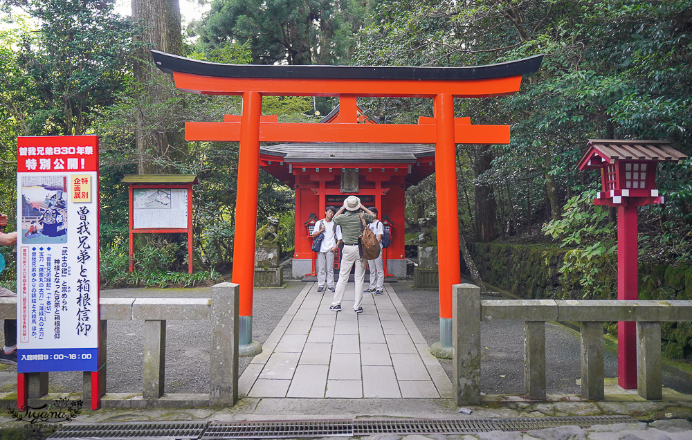
M 166 362 L 166 321 L 144 321 L 143 398 L 163 396 Z

